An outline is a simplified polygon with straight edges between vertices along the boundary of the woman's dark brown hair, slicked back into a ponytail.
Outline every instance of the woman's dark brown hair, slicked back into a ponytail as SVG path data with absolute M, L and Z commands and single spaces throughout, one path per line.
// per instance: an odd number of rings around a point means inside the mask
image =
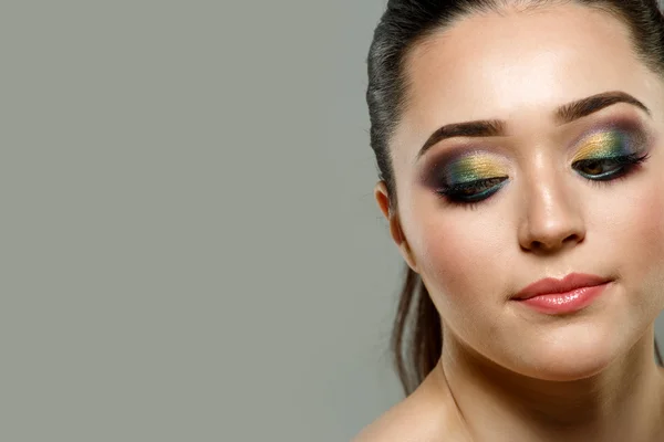
M 369 51 L 366 102 L 371 147 L 378 176 L 385 182 L 390 210 L 396 212 L 396 185 L 390 140 L 406 106 L 408 51 L 434 32 L 474 12 L 498 11 L 508 4 L 538 7 L 574 2 L 608 12 L 624 22 L 635 53 L 657 74 L 664 74 L 664 19 L 656 0 L 388 0 Z M 437 364 L 443 336 L 440 317 L 419 275 L 407 265 L 394 328 L 392 350 L 404 391 L 409 394 Z M 655 340 L 657 362 L 662 356 Z

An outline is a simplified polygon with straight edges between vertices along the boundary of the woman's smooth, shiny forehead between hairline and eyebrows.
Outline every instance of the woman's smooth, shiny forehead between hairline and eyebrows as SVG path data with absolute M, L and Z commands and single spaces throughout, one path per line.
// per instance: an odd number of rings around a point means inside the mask
M 636 57 L 624 23 L 568 3 L 459 19 L 413 48 L 406 76 L 407 130 L 396 138 L 418 144 L 442 125 L 467 120 L 542 128 L 558 106 L 579 98 L 608 91 L 647 96 L 654 74 Z

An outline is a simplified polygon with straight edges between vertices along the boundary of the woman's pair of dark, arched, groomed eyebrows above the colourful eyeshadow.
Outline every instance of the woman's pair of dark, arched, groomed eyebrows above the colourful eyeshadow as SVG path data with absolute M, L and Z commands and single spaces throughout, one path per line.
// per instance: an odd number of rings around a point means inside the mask
M 624 92 L 614 91 L 592 95 L 587 98 L 562 105 L 556 109 L 553 116 L 559 125 L 563 125 L 618 103 L 627 103 L 634 105 L 644 110 L 649 116 L 652 115 L 650 109 L 632 95 Z M 455 137 L 499 137 L 506 135 L 506 127 L 507 124 L 500 119 L 483 119 L 445 125 L 436 129 L 436 131 L 428 137 L 422 149 L 419 149 L 416 160 L 422 158 L 429 148 L 444 139 Z

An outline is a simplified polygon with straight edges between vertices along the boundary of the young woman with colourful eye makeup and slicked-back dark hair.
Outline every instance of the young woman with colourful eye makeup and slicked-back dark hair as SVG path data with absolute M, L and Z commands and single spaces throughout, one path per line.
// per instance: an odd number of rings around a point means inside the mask
M 656 1 L 390 0 L 367 103 L 408 396 L 356 441 L 663 441 Z

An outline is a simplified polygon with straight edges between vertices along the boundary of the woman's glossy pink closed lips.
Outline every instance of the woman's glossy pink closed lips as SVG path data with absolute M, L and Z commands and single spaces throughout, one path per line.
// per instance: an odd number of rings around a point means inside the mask
M 573 273 L 562 280 L 546 278 L 530 284 L 512 299 L 546 314 L 573 313 L 592 304 L 610 281 Z

